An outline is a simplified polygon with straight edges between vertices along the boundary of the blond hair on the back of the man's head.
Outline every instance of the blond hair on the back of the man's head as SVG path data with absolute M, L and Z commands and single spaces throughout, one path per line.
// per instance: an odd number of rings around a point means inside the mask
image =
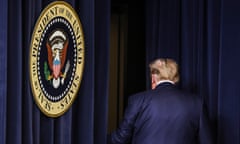
M 149 64 L 151 74 L 156 74 L 158 81 L 170 80 L 174 83 L 179 81 L 178 65 L 173 59 L 156 59 Z

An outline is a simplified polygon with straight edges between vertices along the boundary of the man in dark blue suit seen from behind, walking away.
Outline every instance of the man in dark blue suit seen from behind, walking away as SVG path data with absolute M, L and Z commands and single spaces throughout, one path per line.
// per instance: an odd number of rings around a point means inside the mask
M 150 65 L 152 90 L 129 98 L 109 144 L 212 144 L 201 99 L 178 90 L 178 65 L 157 59 Z

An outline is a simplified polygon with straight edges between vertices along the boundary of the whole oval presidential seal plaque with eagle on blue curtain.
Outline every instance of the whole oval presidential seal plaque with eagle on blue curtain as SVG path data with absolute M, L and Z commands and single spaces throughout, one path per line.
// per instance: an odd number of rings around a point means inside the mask
M 66 2 L 49 4 L 32 33 L 29 55 L 34 100 L 49 117 L 63 115 L 80 88 L 84 35 L 75 10 Z

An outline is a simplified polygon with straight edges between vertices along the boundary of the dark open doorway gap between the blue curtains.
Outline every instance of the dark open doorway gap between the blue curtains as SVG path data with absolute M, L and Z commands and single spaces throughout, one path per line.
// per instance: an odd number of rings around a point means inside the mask
M 128 97 L 146 89 L 144 1 L 111 1 L 108 131 L 121 121 Z

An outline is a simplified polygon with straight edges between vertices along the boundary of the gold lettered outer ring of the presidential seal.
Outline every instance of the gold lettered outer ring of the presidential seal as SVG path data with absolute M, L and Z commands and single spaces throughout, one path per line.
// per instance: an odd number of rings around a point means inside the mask
M 72 26 L 74 36 L 76 38 L 76 49 L 77 49 L 77 61 L 76 71 L 72 82 L 72 85 L 68 93 L 58 102 L 49 101 L 43 94 L 40 88 L 40 83 L 37 74 L 37 58 L 39 52 L 39 40 L 42 36 L 45 27 L 55 17 L 64 17 Z M 29 70 L 30 70 L 30 83 L 36 104 L 40 110 L 49 117 L 58 117 L 63 115 L 72 105 L 74 99 L 77 96 L 80 88 L 83 68 L 84 68 L 84 35 L 81 21 L 78 14 L 72 8 L 71 5 L 64 1 L 56 1 L 50 3 L 40 14 L 32 34 L 30 44 L 30 55 L 29 55 Z

